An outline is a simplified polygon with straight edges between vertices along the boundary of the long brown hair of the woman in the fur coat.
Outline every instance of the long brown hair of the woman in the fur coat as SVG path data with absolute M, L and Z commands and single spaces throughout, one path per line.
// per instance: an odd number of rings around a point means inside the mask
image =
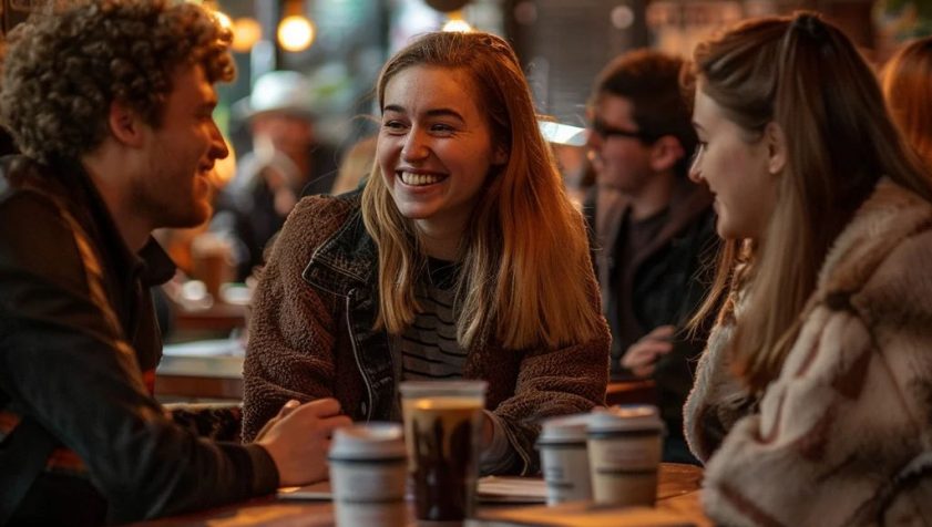
M 932 189 L 887 113 L 871 68 L 818 16 L 745 22 L 700 43 L 694 60 L 704 93 L 749 137 L 775 122 L 787 141 L 787 169 L 765 234 L 752 245 L 726 244 L 713 292 L 695 318 L 717 309 L 740 282 L 746 302 L 730 352 L 736 373 L 761 390 L 796 340 L 831 244 L 880 177 L 930 200 Z

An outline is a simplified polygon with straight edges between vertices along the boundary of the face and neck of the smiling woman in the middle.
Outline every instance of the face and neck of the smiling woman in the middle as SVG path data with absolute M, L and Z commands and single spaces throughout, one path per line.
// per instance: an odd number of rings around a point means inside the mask
M 377 156 L 395 205 L 414 220 L 428 256 L 455 260 L 490 170 L 508 153 L 492 146 L 469 75 L 412 66 L 386 85 Z

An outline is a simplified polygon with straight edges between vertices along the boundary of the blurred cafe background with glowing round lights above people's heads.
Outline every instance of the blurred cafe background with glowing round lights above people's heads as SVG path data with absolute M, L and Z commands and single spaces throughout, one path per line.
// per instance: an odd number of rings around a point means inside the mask
M 539 104 L 584 125 L 592 80 L 613 56 L 649 46 L 688 56 L 717 28 L 748 17 L 817 10 L 882 62 L 899 42 L 932 32 L 932 0 L 205 0 L 234 29 L 239 75 L 222 87 L 218 117 L 264 72 L 307 74 L 319 131 L 338 146 L 372 132 L 371 87 L 385 60 L 411 37 L 477 29 L 513 43 Z M 234 141 L 239 141 L 234 137 Z M 236 146 L 234 144 L 234 146 Z

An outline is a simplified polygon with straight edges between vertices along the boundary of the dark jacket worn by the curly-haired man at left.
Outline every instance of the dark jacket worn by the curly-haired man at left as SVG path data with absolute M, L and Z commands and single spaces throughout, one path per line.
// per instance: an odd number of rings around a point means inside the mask
M 132 254 L 76 163 L 1 169 L 0 477 L 29 482 L 27 461 L 49 459 L 13 521 L 126 521 L 274 490 L 264 448 L 201 441 L 151 395 L 148 287 L 174 272 L 157 244 Z

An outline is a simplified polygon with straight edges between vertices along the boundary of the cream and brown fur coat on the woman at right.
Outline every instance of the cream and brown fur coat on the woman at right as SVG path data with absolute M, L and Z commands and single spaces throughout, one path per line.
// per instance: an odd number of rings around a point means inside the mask
M 731 327 L 710 338 L 685 409 L 693 452 L 711 455 L 707 514 L 733 526 L 932 525 L 932 205 L 882 179 L 801 320 L 744 416 Z M 720 446 L 709 421 L 730 427 Z

